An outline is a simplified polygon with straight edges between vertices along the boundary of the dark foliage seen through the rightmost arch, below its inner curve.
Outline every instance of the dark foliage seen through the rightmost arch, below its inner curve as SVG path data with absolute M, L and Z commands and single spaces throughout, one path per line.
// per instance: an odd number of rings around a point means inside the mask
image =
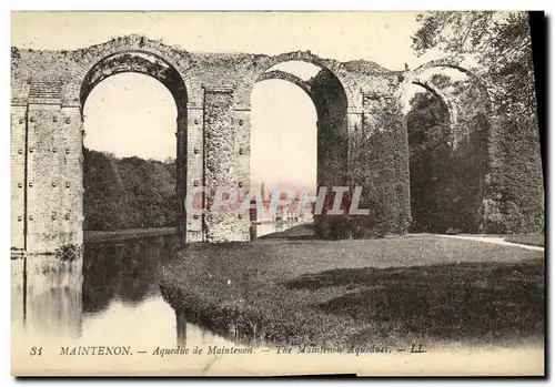
M 452 126 L 446 106 L 431 93 L 417 93 L 411 105 L 412 230 L 478 232 L 487 169 L 486 131 L 465 120 Z

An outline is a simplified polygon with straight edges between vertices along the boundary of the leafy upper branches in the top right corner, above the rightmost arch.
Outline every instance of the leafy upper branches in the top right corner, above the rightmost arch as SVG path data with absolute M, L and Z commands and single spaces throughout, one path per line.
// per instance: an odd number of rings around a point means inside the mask
M 421 28 L 413 35 L 417 54 L 437 48 L 461 60 L 472 57 L 495 108 L 513 120 L 536 116 L 526 12 L 431 12 L 417 20 Z

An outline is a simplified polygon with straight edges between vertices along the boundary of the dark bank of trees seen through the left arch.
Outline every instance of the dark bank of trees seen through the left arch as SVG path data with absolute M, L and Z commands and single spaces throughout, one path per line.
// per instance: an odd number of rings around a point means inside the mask
M 176 218 L 175 161 L 83 149 L 84 230 L 172 226 Z

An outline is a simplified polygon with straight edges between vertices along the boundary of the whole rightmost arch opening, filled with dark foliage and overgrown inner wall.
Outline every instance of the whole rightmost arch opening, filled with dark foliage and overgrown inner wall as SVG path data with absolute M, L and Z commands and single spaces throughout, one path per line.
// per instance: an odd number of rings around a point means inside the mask
M 488 172 L 487 95 L 467 71 L 433 67 L 405 94 L 413 232 L 478 233 Z

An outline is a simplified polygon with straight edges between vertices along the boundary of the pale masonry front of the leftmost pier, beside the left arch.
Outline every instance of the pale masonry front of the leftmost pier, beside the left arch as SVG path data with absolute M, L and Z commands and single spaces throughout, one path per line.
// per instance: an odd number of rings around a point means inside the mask
M 29 104 L 27 249 L 82 244 L 82 138 L 75 108 Z

